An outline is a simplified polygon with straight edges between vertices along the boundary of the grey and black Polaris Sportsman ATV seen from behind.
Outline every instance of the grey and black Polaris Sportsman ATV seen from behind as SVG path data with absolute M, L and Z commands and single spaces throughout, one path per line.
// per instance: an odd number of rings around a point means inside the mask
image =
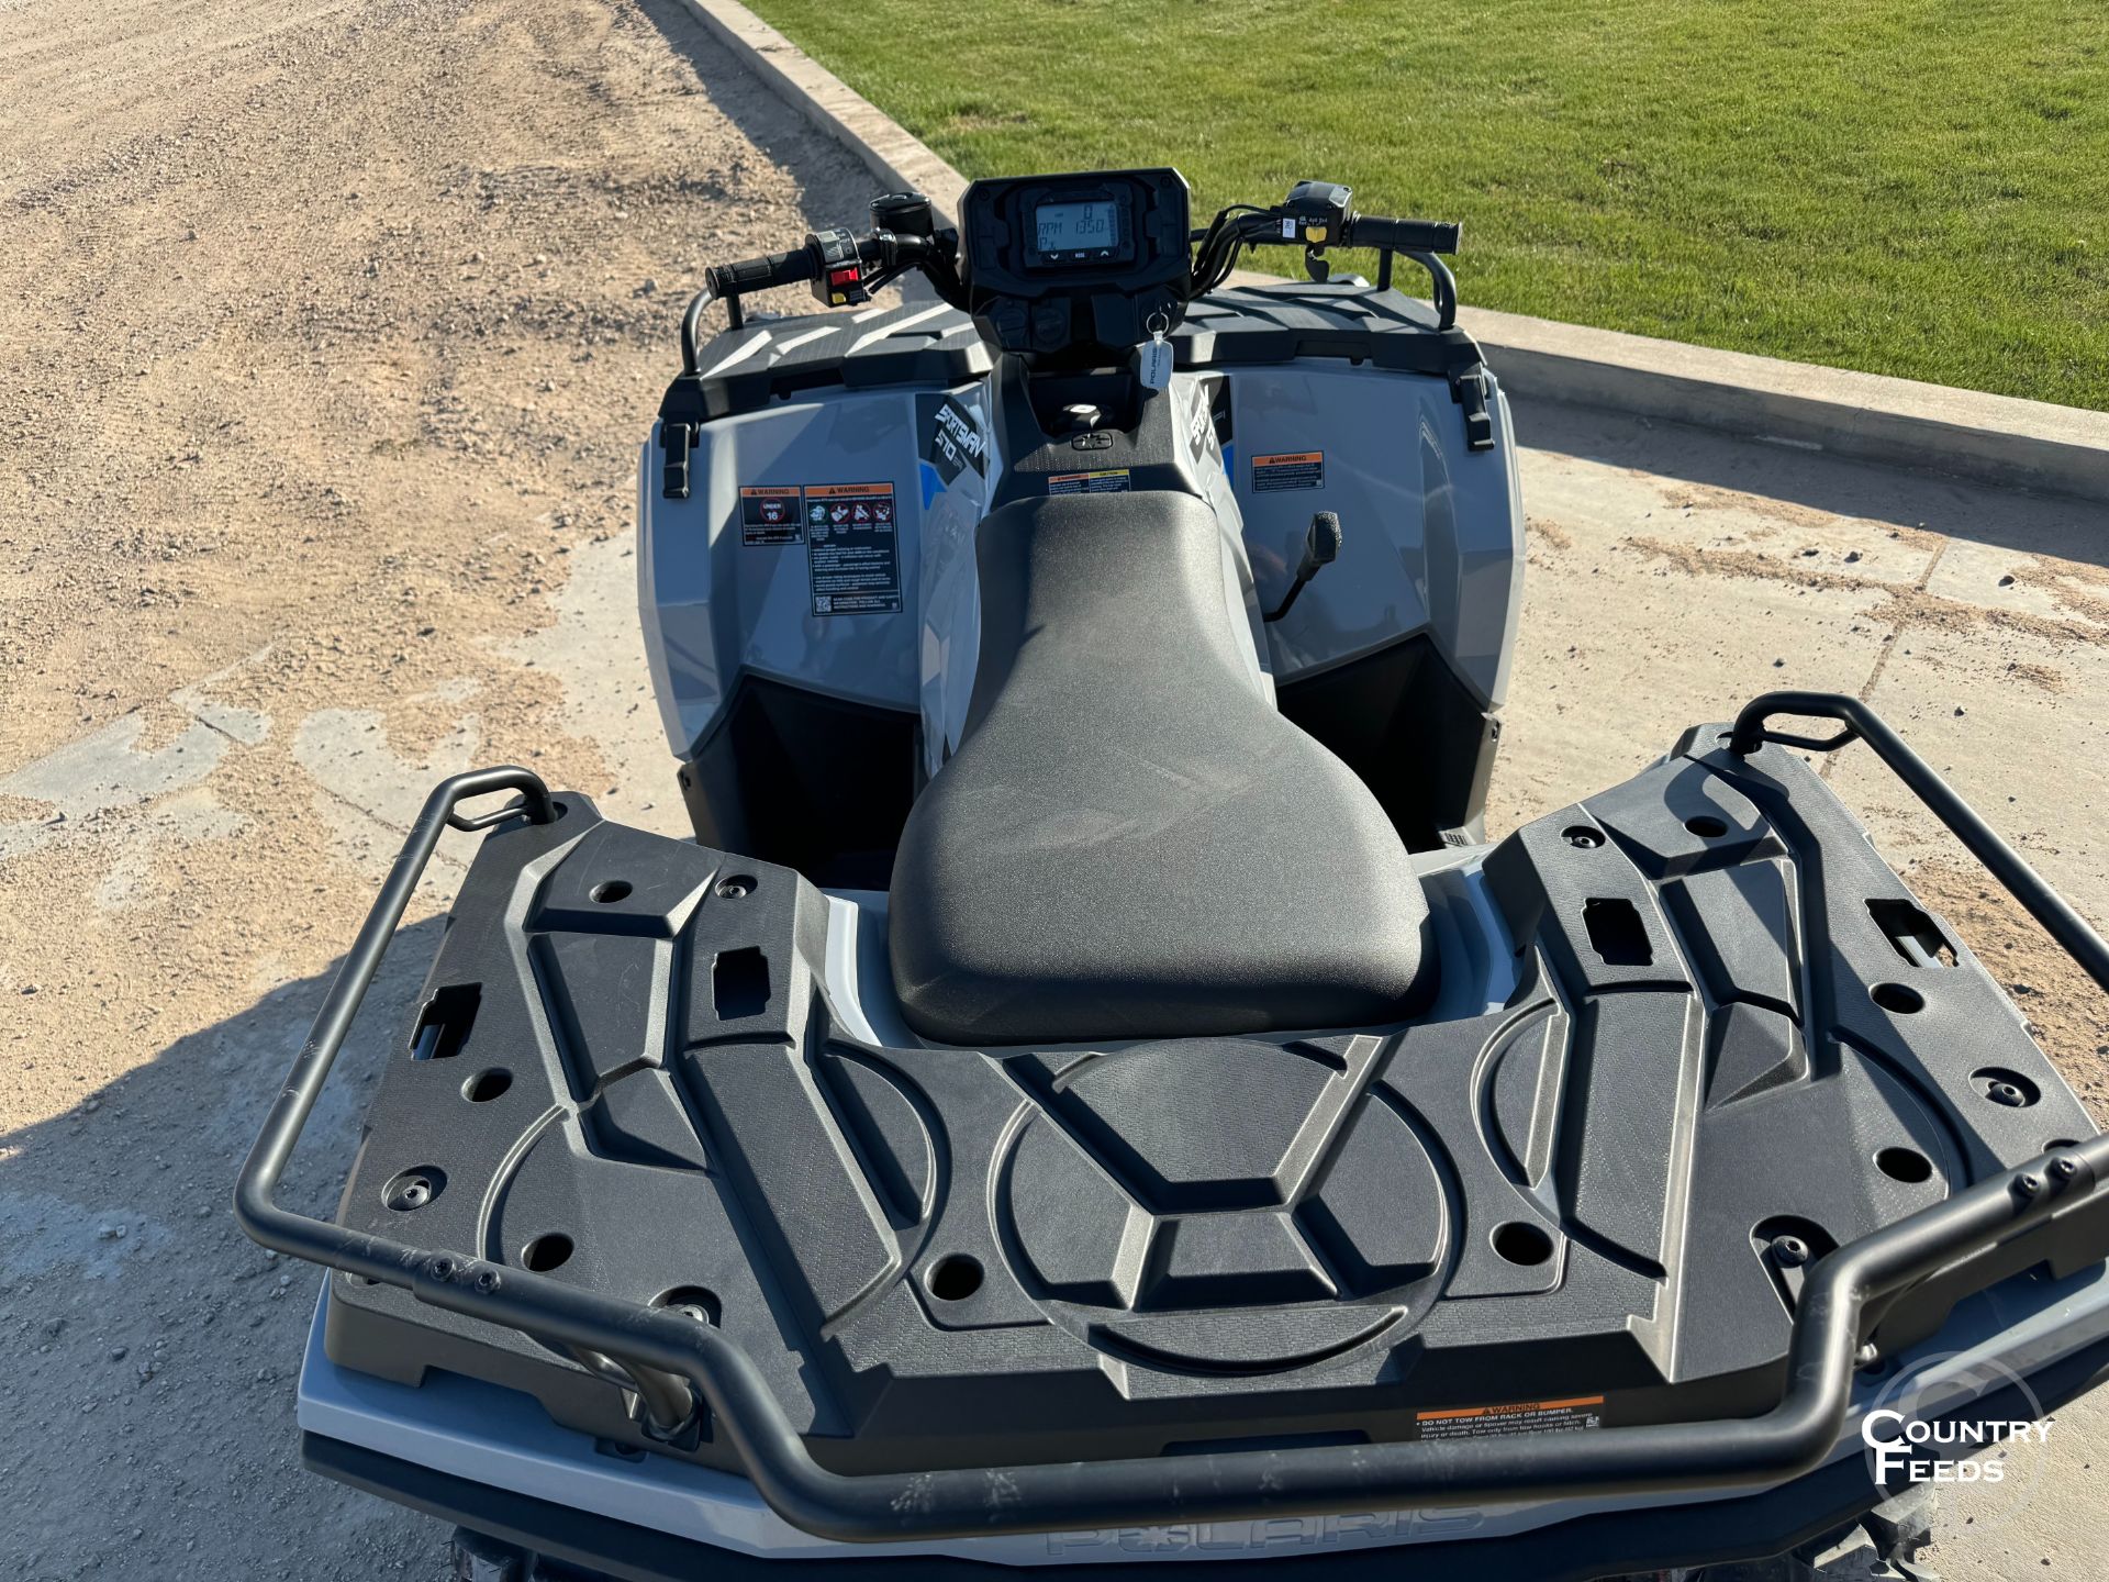
M 2103 941 L 1850 698 L 1485 842 L 1523 517 L 1455 226 L 1303 184 L 1194 230 L 1168 169 L 871 217 L 709 272 L 643 451 L 696 840 L 443 783 L 272 1107 L 240 1219 L 333 1270 L 306 1460 L 489 1578 L 1592 1578 L 1862 1519 L 1909 1563 L 1862 1420 L 2092 1384 L 2109 1139 L 1810 755 L 2109 985 Z M 1227 287 L 1265 245 L 1314 278 Z M 801 281 L 854 312 L 744 319 Z

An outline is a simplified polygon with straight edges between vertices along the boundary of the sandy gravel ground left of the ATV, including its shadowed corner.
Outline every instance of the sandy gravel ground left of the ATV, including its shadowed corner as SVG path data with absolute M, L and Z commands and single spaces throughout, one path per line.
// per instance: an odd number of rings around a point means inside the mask
M 666 0 L 0 0 L 0 1574 L 437 1578 L 297 1470 L 232 1173 L 434 774 L 677 827 L 635 445 L 871 179 Z

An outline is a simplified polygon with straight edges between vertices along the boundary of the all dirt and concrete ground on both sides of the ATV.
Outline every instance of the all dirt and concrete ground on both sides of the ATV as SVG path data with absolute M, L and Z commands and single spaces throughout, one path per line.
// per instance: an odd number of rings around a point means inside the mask
M 0 0 L 0 1571 L 439 1578 L 437 1523 L 297 1470 L 314 1278 L 234 1230 L 232 1175 L 439 774 L 525 761 L 683 829 L 635 447 L 700 266 L 873 184 L 671 0 Z M 2105 513 L 1518 422 L 1495 829 L 1833 686 L 2109 918 Z M 1835 774 L 2109 1118 L 2101 998 Z M 308 1207 L 458 873 L 318 1114 Z M 2101 1550 L 2010 1559 L 1970 1574 Z

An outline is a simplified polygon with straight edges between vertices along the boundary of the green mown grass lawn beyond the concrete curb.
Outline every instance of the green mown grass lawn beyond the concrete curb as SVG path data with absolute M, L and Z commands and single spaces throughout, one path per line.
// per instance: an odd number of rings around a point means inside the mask
M 1348 181 L 1468 304 L 2109 407 L 2109 0 L 749 4 L 970 177 Z

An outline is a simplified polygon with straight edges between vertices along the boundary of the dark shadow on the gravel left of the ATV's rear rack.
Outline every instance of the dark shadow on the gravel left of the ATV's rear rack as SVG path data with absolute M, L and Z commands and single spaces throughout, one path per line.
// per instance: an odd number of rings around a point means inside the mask
M 333 1215 L 441 920 L 396 934 L 280 1200 Z M 0 1574 L 451 1576 L 447 1531 L 299 1468 L 321 1274 L 234 1223 L 234 1175 L 335 966 L 0 1137 Z M 63 1059 L 42 1050 L 42 1059 Z M 91 1107 L 93 1105 L 93 1107 Z M 4 1432 L 4 1430 L 0 1430 Z

